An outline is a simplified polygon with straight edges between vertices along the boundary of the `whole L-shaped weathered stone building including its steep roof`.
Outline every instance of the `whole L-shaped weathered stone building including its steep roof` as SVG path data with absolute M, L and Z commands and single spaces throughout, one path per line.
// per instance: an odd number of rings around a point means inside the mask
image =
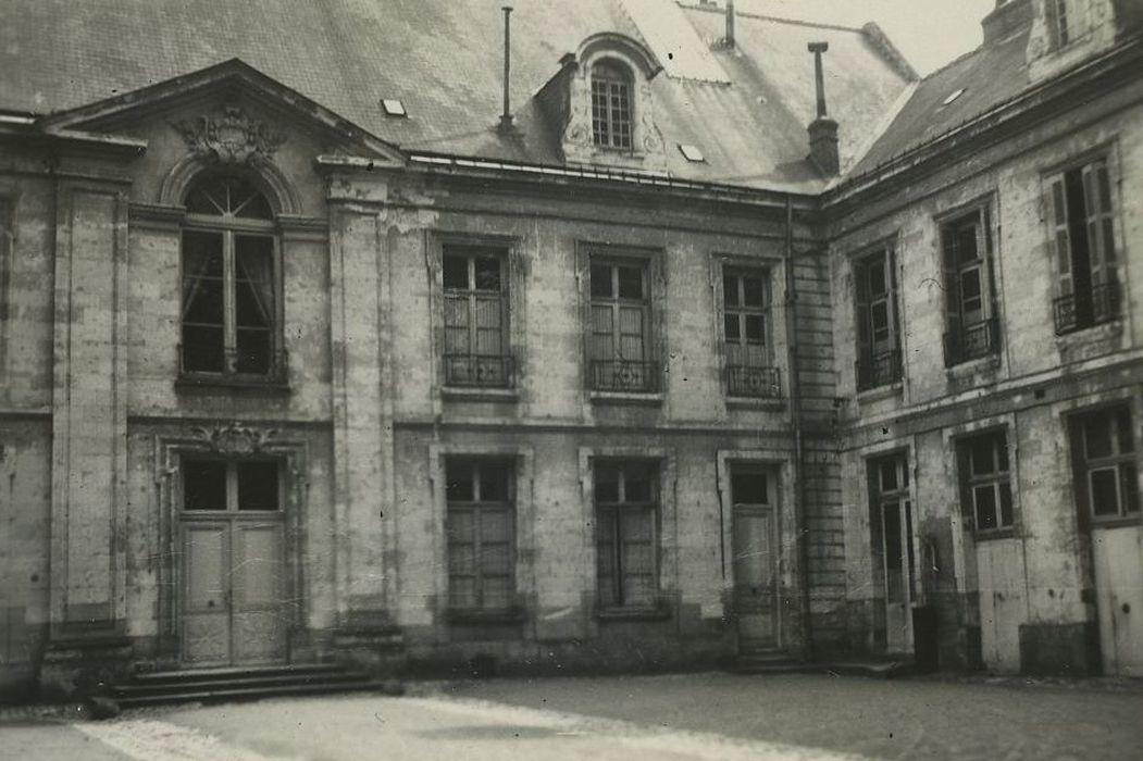
M 7 688 L 1138 673 L 1129 3 L 1000 3 L 918 80 L 876 26 L 553 0 L 506 86 L 475 3 L 126 5 L 5 47 Z

